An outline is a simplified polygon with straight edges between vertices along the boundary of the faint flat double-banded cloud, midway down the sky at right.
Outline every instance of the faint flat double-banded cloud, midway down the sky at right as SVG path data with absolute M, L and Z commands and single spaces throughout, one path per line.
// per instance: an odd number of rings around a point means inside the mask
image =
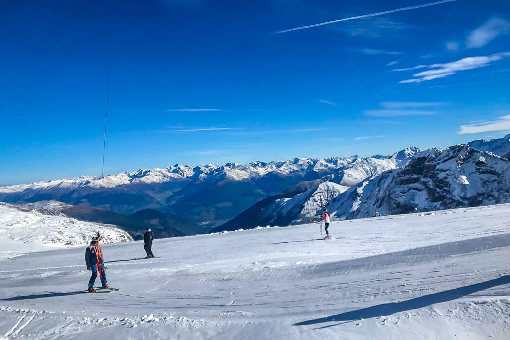
M 423 108 L 438 107 L 447 102 L 443 101 L 382 101 L 381 109 L 365 110 L 371 117 L 404 117 L 404 116 L 431 116 L 437 111 L 423 110 Z

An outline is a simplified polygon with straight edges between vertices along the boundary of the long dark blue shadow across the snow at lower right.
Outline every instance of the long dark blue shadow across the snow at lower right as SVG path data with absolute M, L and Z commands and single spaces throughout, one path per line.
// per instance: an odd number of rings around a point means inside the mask
M 473 294 L 479 291 L 483 291 L 486 289 L 490 289 L 492 287 L 508 284 L 510 283 L 510 275 L 505 275 L 502 277 L 499 277 L 497 279 L 475 283 L 471 285 L 467 285 L 464 287 L 440 292 L 440 293 L 434 293 L 434 294 L 428 294 L 424 295 L 418 298 L 414 298 L 411 300 L 406 300 L 402 302 L 391 302 L 391 303 L 383 303 L 371 307 L 356 309 L 347 311 L 344 313 L 340 313 L 337 315 L 332 315 L 325 318 L 319 318 L 319 319 L 313 319 L 308 321 L 302 321 L 294 324 L 294 326 L 304 326 L 304 325 L 313 325 L 313 324 L 319 324 L 323 322 L 330 322 L 330 321 L 353 321 L 353 320 L 360 320 L 360 319 L 369 319 L 374 318 L 378 316 L 388 316 L 392 315 L 394 313 L 406 311 L 406 310 L 413 310 L 418 309 L 426 306 L 430 306 L 435 303 L 441 303 L 446 301 L 455 300 L 458 298 L 461 298 L 463 296 Z M 333 325 L 335 326 L 335 325 Z

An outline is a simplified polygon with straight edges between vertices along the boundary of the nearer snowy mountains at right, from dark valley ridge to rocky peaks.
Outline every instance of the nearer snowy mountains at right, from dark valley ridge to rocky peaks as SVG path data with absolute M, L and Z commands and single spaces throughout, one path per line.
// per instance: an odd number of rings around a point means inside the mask
M 410 213 L 415 208 L 432 211 L 510 202 L 510 168 L 508 160 L 499 156 L 510 150 L 510 135 L 469 144 L 486 152 L 456 145 L 373 156 L 344 169 L 342 181 L 323 177 L 310 182 L 306 190 L 275 195 L 213 231 L 318 221 L 322 208 L 327 208 L 334 219 L 350 219 L 374 216 L 375 212 L 393 215 Z M 359 171 L 367 167 L 372 171 Z

